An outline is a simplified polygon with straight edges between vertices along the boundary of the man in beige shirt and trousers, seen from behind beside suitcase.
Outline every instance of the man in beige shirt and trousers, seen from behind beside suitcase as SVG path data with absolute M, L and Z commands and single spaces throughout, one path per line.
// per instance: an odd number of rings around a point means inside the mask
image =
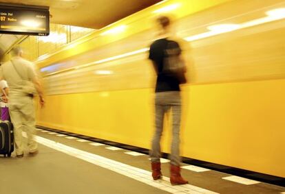
M 14 125 L 14 141 L 16 155 L 23 157 L 22 128 L 25 128 L 28 137 L 28 148 L 31 155 L 38 153 L 38 144 L 34 141 L 35 113 L 33 95 L 30 92 L 34 88 L 39 94 L 39 103 L 43 107 L 43 90 L 37 77 L 32 62 L 23 59 L 21 47 L 12 49 L 12 59 L 1 66 L 0 79 L 8 82 L 10 87 L 8 107 L 12 124 Z M 30 85 L 30 87 L 29 87 Z M 30 91 L 28 92 L 30 88 Z

